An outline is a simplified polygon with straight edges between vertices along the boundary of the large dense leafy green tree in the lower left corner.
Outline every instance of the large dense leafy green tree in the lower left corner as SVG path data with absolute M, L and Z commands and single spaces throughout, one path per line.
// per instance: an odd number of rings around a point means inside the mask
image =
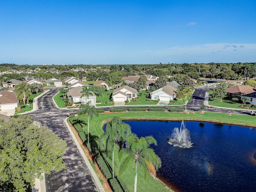
M 66 142 L 29 116 L 0 121 L 0 190 L 25 192 L 41 173 L 65 168 Z

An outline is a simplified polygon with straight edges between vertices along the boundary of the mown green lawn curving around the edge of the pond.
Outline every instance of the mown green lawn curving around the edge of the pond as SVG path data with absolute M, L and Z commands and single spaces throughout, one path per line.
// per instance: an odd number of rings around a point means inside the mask
M 208 122 L 220 122 L 220 123 L 230 123 L 230 124 L 240 124 L 244 126 L 254 126 L 256 127 L 256 118 L 249 115 L 237 115 L 232 114 L 228 116 L 225 113 L 214 113 L 205 112 L 200 114 L 199 112 L 122 112 L 122 113 L 106 113 L 99 114 L 98 117 L 92 118 L 90 120 L 90 135 L 92 138 L 99 138 L 103 133 L 102 124 L 106 120 L 110 120 L 113 116 L 119 116 L 122 120 L 196 120 L 196 121 L 208 121 Z M 87 122 L 87 115 L 78 116 L 76 118 L 81 118 Z M 83 126 L 84 132 L 87 134 L 87 127 Z M 120 166 L 121 160 L 118 157 L 118 147 L 115 148 L 115 168 L 116 176 L 121 178 L 126 186 L 128 186 L 130 191 L 133 191 L 134 185 L 134 165 L 131 164 L 129 168 L 124 172 L 122 176 L 118 173 L 118 167 Z M 111 159 L 107 158 L 110 165 Z M 157 180 L 154 180 L 148 175 L 147 179 L 144 178 L 144 174 L 141 169 L 138 170 L 138 186 L 137 191 L 148 192 L 148 191 L 168 191 L 162 184 Z

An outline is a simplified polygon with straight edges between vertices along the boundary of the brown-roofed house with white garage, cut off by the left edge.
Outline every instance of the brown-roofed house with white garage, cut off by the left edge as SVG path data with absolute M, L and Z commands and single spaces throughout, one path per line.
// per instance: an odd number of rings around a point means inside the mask
M 18 99 L 14 92 L 3 90 L 0 92 L 0 109 L 1 113 L 9 116 L 14 115 L 15 108 L 18 107 Z M 11 112 L 11 113 L 10 113 Z

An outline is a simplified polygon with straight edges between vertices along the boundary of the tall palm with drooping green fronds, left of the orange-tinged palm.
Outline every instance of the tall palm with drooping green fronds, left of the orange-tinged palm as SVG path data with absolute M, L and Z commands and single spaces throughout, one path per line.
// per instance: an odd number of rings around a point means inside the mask
M 122 122 L 118 116 L 113 116 L 106 125 L 106 131 L 100 136 L 100 148 L 106 150 L 108 155 L 112 154 L 112 178 L 114 178 L 114 146 L 119 144 L 119 148 L 123 147 L 123 143 L 127 136 L 132 133 L 130 125 Z

